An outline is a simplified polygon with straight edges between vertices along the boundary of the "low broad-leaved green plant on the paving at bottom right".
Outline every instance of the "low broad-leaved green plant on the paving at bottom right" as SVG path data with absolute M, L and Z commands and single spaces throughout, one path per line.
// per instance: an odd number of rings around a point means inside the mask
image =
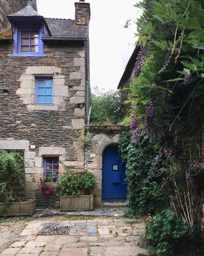
M 151 255 L 156 253 L 160 256 L 170 256 L 173 253 L 171 244 L 176 239 L 191 236 L 192 231 L 188 228 L 186 220 L 173 216 L 168 208 L 151 217 L 146 224 L 145 238 L 157 244 L 149 247 Z

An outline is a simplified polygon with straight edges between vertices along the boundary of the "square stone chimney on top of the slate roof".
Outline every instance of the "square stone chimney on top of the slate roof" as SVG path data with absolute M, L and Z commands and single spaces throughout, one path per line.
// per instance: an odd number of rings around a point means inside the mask
M 75 25 L 89 25 L 91 17 L 90 4 L 85 2 L 75 3 Z

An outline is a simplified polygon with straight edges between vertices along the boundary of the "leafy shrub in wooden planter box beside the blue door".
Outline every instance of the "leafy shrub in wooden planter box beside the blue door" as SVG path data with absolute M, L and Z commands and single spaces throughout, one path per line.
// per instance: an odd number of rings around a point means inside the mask
M 62 163 L 62 162 L 60 162 Z M 80 211 L 94 209 L 95 177 L 92 172 L 74 172 L 62 163 L 66 172 L 60 177 L 60 210 Z

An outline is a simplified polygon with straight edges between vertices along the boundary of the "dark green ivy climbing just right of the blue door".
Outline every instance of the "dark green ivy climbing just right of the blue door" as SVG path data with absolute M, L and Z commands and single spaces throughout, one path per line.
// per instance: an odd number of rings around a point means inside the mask
M 124 131 L 119 140 L 122 159 L 126 161 L 126 181 L 128 188 L 128 209 L 126 216 L 147 215 L 162 203 L 164 194 L 156 182 L 152 169 L 155 167 L 157 145 L 146 135 L 140 134 L 135 145 L 130 133 Z

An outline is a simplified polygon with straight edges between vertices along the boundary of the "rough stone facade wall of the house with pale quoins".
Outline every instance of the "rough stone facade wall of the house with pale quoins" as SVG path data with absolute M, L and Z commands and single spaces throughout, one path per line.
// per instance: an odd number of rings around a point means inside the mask
M 84 149 L 74 141 L 84 128 L 84 59 L 84 43 L 44 43 L 44 57 L 13 57 L 12 43 L 0 45 L 0 148 L 15 150 L 27 141 L 21 150 L 28 162 L 28 199 L 41 197 L 43 156 L 59 156 L 69 168 L 84 170 Z M 34 104 L 35 77 L 41 76 L 53 77 L 53 105 Z

